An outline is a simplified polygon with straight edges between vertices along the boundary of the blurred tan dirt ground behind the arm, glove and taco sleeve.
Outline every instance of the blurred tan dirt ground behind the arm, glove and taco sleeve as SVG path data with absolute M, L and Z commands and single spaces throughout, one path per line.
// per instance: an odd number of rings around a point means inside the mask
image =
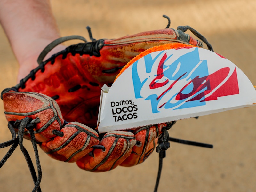
M 118 38 L 127 34 L 189 25 L 203 34 L 214 51 L 235 63 L 256 85 L 256 1 L 254 0 L 108 0 L 52 1 L 62 36 Z M 190 33 L 191 34 L 191 33 Z M 16 84 L 18 64 L 0 29 L 0 90 Z M 72 43 L 72 42 L 71 42 Z M 206 48 L 206 46 L 204 46 Z M 35 61 L 36 62 L 36 61 Z M 234 101 L 236 102 L 236 101 Z M 252 192 L 256 190 L 256 108 L 241 108 L 178 121 L 171 137 L 211 143 L 213 149 L 171 143 L 164 158 L 158 191 Z M 0 102 L 0 142 L 11 139 Z M 24 141 L 30 154 L 32 146 Z M 0 150 L 2 158 L 7 149 Z M 31 155 L 34 159 L 34 156 Z M 153 191 L 158 168 L 154 152 L 143 164 L 92 173 L 76 164 L 59 162 L 41 149 L 42 191 Z M 0 169 L 0 191 L 33 188 L 19 148 Z

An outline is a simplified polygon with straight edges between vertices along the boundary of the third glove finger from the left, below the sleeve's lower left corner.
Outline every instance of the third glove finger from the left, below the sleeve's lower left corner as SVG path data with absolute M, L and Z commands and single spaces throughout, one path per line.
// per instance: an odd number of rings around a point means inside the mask
M 81 169 L 92 172 L 104 172 L 116 168 L 132 152 L 136 140 L 134 134 L 126 131 L 111 131 L 104 135 L 100 145 L 105 149 L 94 149 L 79 159 L 76 164 Z

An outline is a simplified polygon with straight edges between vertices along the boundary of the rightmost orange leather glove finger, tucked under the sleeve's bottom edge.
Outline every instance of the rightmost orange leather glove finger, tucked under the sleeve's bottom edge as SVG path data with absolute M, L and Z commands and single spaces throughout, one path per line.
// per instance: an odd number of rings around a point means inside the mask
M 153 152 L 157 145 L 158 136 L 162 133 L 162 128 L 167 123 L 156 124 L 137 128 L 133 133 L 136 145 L 132 148 L 132 153 L 120 165 L 130 167 L 144 162 Z

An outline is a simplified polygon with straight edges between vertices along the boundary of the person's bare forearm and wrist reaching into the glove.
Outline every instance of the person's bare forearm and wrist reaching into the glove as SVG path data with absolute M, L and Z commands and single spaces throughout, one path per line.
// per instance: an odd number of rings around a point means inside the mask
M 0 23 L 20 66 L 19 82 L 38 66 L 42 50 L 60 37 L 50 0 L 0 0 Z M 63 49 L 57 46 L 46 58 Z

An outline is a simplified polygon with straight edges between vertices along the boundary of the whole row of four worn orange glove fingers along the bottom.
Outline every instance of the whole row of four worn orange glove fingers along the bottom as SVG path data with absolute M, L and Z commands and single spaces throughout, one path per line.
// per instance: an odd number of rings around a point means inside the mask
M 148 158 L 157 145 L 157 138 L 168 123 L 146 126 L 132 132 L 112 131 L 99 142 L 96 131 L 77 122 L 63 126 L 64 119 L 55 100 L 35 92 L 3 94 L 8 121 L 29 117 L 39 119 L 34 128 L 40 147 L 52 158 L 76 162 L 87 171 L 109 171 L 116 166 L 133 166 Z M 62 127 L 63 126 L 63 127 Z M 25 131 L 27 131 L 25 129 Z M 25 132 L 26 138 L 30 135 Z M 92 148 L 93 146 L 101 148 Z M 102 148 L 103 146 L 103 148 Z

